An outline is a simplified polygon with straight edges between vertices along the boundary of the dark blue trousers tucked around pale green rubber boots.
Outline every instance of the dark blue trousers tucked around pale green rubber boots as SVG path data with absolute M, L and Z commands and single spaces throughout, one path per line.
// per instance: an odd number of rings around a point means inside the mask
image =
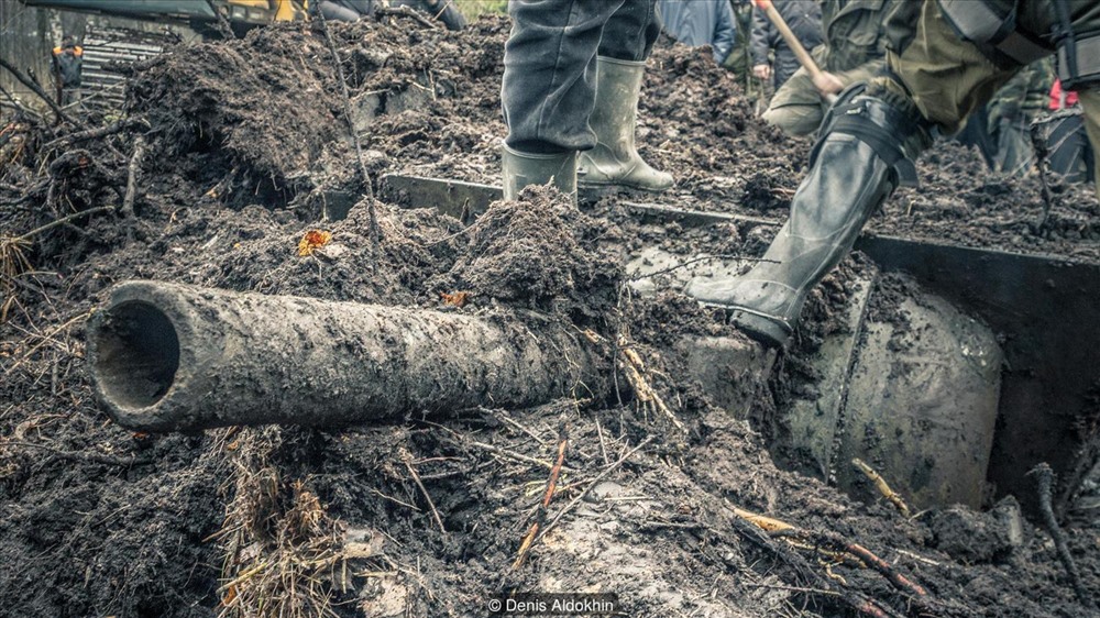
M 661 31 L 657 0 L 510 0 L 504 52 L 508 146 L 524 152 L 596 145 L 588 115 L 596 55 L 644 62 Z

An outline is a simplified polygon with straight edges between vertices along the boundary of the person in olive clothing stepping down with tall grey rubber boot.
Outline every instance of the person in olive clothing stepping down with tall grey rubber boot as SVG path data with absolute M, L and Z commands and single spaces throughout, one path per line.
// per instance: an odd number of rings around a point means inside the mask
M 810 290 L 894 189 L 916 184 L 916 156 L 1026 65 L 1057 53 L 1063 87 L 1077 90 L 1089 141 L 1100 143 L 1100 2 L 906 1 L 890 29 L 889 71 L 848 87 L 829 109 L 763 260 L 744 275 L 688 286 L 766 344 L 787 344 Z

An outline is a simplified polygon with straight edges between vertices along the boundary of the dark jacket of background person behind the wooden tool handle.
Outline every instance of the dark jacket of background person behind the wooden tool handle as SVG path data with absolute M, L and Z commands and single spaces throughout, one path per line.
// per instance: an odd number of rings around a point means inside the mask
M 807 51 L 822 42 L 822 8 L 817 0 L 773 0 L 772 4 L 791 27 L 794 36 Z M 752 9 L 752 64 L 771 64 L 776 88 L 799 70 L 799 59 L 779 30 L 759 8 Z M 768 52 L 774 49 L 776 60 L 768 62 Z

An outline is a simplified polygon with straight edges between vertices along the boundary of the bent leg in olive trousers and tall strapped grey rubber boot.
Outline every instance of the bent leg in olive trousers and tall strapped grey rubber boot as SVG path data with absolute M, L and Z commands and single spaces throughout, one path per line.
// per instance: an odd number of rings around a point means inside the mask
M 893 76 L 849 87 L 829 110 L 791 217 L 748 273 L 692 282 L 688 294 L 726 307 L 748 334 L 785 345 L 806 295 L 855 243 L 871 213 L 932 144 L 933 123 L 954 131 L 1011 75 L 958 38 L 935 0 L 925 0 L 910 44 L 888 58 Z M 912 97 L 910 96 L 912 92 Z

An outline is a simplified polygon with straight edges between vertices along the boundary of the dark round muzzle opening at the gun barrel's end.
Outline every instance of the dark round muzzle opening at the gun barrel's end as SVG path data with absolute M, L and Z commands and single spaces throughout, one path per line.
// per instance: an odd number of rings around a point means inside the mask
M 98 351 L 92 369 L 110 404 L 147 408 L 175 382 L 179 336 L 155 306 L 131 301 L 112 307 L 92 336 Z

